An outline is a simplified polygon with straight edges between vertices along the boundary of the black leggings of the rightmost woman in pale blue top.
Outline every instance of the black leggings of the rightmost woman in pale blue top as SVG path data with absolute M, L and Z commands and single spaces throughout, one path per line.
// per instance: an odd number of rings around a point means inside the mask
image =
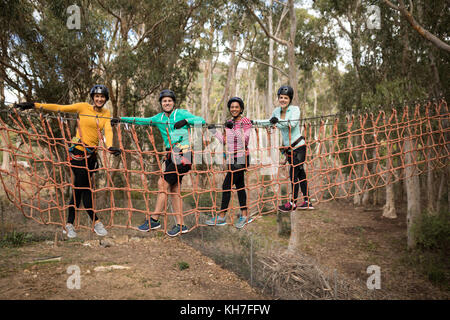
M 303 145 L 293 151 L 288 151 L 287 161 L 290 164 L 289 178 L 292 185 L 292 202 L 297 203 L 299 187 L 302 189 L 305 201 L 309 201 L 308 182 L 303 163 L 306 159 L 306 146 Z

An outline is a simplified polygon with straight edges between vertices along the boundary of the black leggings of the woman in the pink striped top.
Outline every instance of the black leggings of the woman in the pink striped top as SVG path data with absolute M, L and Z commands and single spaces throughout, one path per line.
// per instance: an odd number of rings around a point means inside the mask
M 249 157 L 247 157 L 247 166 L 250 164 Z M 240 163 L 240 162 L 237 162 Z M 239 165 L 237 165 L 239 166 Z M 228 209 L 231 198 L 231 185 L 234 184 L 238 189 L 238 199 L 241 210 L 247 209 L 247 193 L 245 191 L 245 164 L 241 165 L 241 168 L 228 165 L 230 171 L 227 172 L 225 180 L 222 185 L 222 206 L 220 211 Z

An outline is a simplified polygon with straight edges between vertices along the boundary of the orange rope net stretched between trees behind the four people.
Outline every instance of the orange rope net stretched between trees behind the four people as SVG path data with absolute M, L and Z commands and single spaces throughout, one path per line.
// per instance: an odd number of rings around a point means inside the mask
M 25 217 L 40 224 L 66 223 L 74 192 L 68 147 L 78 121 L 76 114 L 18 112 L 15 108 L 0 112 L 1 193 Z M 299 121 L 307 144 L 303 166 L 314 205 L 362 195 L 448 166 L 449 111 L 444 100 L 392 109 L 390 113 L 335 114 Z M 122 149 L 118 157 L 106 150 L 97 130 L 101 143 L 98 167 L 91 170 L 95 172 L 91 180 L 93 211 L 106 227 L 137 230 L 153 213 L 167 152 L 153 126 L 120 123 L 113 130 L 114 146 Z M 279 204 L 288 201 L 291 185 L 289 164 L 280 156 L 278 129 L 253 126 L 251 130 L 245 189 L 249 213 L 257 218 L 276 212 Z M 183 220 L 192 230 L 204 226 L 207 218 L 220 211 L 222 183 L 229 166 L 224 160 L 228 149 L 205 126 L 191 127 L 189 135 L 192 168 L 178 194 Z M 237 191 L 232 188 L 228 224 L 240 213 Z M 161 213 L 163 231 L 175 220 L 170 201 L 165 207 Z M 76 209 L 74 225 L 93 228 L 83 207 Z

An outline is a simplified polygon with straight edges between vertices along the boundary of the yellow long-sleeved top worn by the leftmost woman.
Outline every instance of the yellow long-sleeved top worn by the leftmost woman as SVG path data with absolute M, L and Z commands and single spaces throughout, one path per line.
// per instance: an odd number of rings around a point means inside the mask
M 78 113 L 80 125 L 77 128 L 76 137 L 89 147 L 97 147 L 99 143 L 98 131 L 104 130 L 106 138 L 106 147 L 112 146 L 113 132 L 111 128 L 111 113 L 108 109 L 102 108 L 100 112 L 94 110 L 94 107 L 87 102 L 80 102 L 69 105 L 35 103 L 35 108 L 43 108 L 54 112 Z M 83 147 L 77 146 L 77 149 L 83 150 Z

